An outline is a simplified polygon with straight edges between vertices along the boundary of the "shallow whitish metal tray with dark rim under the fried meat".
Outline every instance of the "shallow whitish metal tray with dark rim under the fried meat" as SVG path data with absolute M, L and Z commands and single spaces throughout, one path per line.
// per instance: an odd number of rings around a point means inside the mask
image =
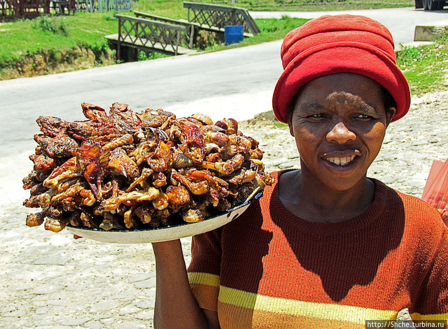
M 182 223 L 178 225 L 163 226 L 146 230 L 110 230 L 104 231 L 96 228 L 84 228 L 66 226 L 66 229 L 76 235 L 87 239 L 111 243 L 149 243 L 169 241 L 200 233 L 205 233 L 221 227 L 239 215 L 241 215 L 249 204 L 262 196 L 263 192 L 256 194 L 249 201 L 240 204 L 222 214 L 207 218 L 197 223 Z

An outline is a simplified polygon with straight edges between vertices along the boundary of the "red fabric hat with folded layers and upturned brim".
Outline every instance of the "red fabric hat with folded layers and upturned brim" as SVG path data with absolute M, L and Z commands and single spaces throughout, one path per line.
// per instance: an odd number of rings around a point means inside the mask
M 285 36 L 281 57 L 284 72 L 272 99 L 281 122 L 287 123 L 289 105 L 304 84 L 342 72 L 364 75 L 386 88 L 397 105 L 392 121 L 409 110 L 409 85 L 397 66 L 392 35 L 376 20 L 356 15 L 312 19 Z

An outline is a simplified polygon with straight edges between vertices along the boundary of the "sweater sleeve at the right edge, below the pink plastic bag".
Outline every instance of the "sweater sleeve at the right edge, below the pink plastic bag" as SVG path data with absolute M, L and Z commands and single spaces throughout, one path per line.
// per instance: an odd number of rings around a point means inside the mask
M 448 229 L 443 225 L 421 303 L 413 312 L 414 320 L 448 320 Z

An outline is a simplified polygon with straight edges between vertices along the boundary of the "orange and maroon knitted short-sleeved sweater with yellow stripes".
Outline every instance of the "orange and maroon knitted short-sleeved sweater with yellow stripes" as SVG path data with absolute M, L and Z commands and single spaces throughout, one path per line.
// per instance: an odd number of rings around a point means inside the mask
M 378 180 L 356 218 L 312 223 L 275 183 L 231 223 L 192 240 L 188 277 L 221 328 L 365 328 L 365 320 L 448 319 L 448 229 L 424 201 Z

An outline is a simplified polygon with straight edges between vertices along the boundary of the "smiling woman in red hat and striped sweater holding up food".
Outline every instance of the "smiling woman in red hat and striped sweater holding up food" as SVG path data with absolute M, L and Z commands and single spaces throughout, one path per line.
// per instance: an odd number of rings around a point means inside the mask
M 163 328 L 365 328 L 448 318 L 448 230 L 418 198 L 367 178 L 387 126 L 410 106 L 390 32 L 362 16 L 291 31 L 274 91 L 300 170 L 274 173 L 239 218 L 154 243 L 154 324 Z M 191 287 L 191 288 L 190 288 Z

